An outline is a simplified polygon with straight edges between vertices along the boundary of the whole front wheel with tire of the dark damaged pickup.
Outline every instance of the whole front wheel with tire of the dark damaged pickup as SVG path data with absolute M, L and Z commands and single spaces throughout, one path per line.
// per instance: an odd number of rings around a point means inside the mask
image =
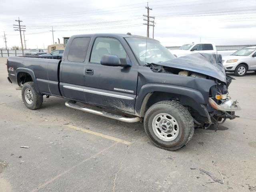
M 159 148 L 178 150 L 194 133 L 194 121 L 188 110 L 176 101 L 161 101 L 152 105 L 144 117 L 145 132 Z

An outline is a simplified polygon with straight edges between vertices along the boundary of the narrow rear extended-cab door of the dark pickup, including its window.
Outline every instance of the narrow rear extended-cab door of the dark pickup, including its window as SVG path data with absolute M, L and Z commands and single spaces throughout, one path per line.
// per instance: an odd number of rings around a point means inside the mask
M 82 102 L 84 97 L 85 58 L 90 37 L 78 37 L 68 41 L 60 64 L 60 91 L 62 96 Z

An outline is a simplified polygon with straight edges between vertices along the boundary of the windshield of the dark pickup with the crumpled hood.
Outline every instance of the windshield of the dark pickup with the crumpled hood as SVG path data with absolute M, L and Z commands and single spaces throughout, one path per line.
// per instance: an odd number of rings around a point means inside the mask
M 128 37 L 126 40 L 143 65 L 146 63 L 164 62 L 176 58 L 156 40 L 136 37 Z

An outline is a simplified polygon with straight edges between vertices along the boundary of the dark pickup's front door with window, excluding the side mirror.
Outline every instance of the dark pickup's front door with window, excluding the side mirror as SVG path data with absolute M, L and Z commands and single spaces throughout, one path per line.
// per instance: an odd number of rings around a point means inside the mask
M 98 36 L 91 49 L 85 64 L 86 102 L 134 113 L 138 64 L 132 63 L 132 67 L 127 68 L 100 64 L 104 54 L 116 55 L 121 62 L 131 62 L 134 55 L 126 41 Z

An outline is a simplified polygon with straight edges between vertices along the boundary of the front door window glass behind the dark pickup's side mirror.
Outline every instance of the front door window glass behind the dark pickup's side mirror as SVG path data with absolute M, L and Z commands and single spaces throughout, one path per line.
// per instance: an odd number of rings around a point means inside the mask
M 100 63 L 103 55 L 116 55 L 118 58 L 128 58 L 124 47 L 117 39 L 98 37 L 92 48 L 90 62 Z

